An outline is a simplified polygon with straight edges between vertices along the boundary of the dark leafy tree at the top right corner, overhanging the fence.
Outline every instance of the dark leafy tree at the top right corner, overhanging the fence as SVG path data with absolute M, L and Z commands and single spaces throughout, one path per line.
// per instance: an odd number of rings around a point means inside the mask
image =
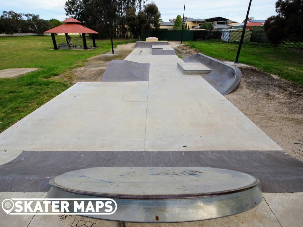
M 278 0 L 278 15 L 271 16 L 264 23 L 269 41 L 278 45 L 283 40 L 300 41 L 303 38 L 303 0 Z

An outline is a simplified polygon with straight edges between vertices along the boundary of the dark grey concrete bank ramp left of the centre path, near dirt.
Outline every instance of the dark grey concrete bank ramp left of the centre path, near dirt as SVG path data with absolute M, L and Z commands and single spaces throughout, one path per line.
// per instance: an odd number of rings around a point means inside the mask
M 148 81 L 149 63 L 114 60 L 108 63 L 102 82 Z

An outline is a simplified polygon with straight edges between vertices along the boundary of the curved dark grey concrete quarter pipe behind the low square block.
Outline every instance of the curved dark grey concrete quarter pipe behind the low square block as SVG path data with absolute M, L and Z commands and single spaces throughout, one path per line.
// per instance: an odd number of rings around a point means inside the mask
M 241 71 L 234 66 L 225 64 L 204 54 L 193 54 L 183 58 L 184 62 L 200 62 L 211 68 L 211 72 L 202 77 L 221 94 L 227 95 L 238 89 L 241 81 Z

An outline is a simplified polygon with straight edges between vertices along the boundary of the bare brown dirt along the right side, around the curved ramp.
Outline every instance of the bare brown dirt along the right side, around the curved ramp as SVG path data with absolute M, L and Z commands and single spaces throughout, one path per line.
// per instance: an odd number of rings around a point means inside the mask
M 187 46 L 172 47 L 182 58 L 198 53 Z M 239 69 L 240 86 L 225 97 L 286 153 L 303 161 L 303 87 L 254 67 Z

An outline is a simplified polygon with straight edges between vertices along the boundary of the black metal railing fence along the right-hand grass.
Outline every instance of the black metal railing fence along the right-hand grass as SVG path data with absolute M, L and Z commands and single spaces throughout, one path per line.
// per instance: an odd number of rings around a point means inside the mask
M 239 43 L 241 38 L 242 29 L 228 29 L 222 31 L 194 31 L 193 41 L 203 40 L 210 42 L 224 42 L 224 43 Z M 243 44 L 248 45 L 262 45 L 272 46 L 266 33 L 263 29 L 258 30 L 246 30 L 243 40 Z M 284 40 L 278 47 L 286 48 L 303 48 L 303 37 L 299 41 Z

